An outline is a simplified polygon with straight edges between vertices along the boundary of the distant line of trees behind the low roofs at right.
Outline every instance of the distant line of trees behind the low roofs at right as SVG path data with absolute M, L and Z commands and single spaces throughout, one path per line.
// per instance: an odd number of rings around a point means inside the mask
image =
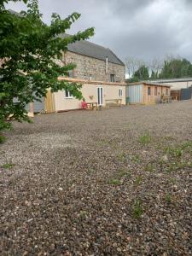
M 133 57 L 127 57 L 125 65 L 129 75 L 128 81 L 130 83 L 150 79 L 192 77 L 191 62 L 172 55 L 166 56 L 165 60 L 154 58 L 154 60 L 149 63 Z

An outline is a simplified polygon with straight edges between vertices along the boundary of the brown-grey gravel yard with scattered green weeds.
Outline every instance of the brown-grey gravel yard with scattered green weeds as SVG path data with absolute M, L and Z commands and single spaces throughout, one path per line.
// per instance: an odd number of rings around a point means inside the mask
M 192 101 L 14 126 L 0 255 L 191 255 Z

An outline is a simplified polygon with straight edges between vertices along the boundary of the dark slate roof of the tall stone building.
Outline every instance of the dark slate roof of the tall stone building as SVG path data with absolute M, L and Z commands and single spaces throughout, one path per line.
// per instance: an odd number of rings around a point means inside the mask
M 65 38 L 67 35 L 61 35 L 61 37 Z M 68 50 L 79 55 L 93 57 L 102 61 L 105 61 L 106 57 L 108 57 L 109 62 L 125 66 L 123 61 L 120 61 L 111 49 L 105 48 L 98 44 L 90 43 L 88 41 L 81 40 L 73 44 L 69 44 Z

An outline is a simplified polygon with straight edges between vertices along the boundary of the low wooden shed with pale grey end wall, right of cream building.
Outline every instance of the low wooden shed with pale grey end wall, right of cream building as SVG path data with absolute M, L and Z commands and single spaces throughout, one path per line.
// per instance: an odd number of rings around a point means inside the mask
M 170 96 L 171 85 L 138 82 L 127 84 L 126 97 L 131 104 L 154 104 L 162 96 Z

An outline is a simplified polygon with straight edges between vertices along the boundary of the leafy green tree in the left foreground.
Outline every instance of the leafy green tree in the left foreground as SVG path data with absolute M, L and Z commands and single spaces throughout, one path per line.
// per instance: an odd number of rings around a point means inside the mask
M 4 3 L 8 2 L 0 0 L 0 130 L 10 126 L 8 119 L 29 121 L 26 105 L 40 101 L 49 88 L 54 92 L 67 89 L 82 98 L 81 84 L 57 79 L 66 76 L 75 65 L 60 65 L 56 60 L 61 60 L 67 44 L 94 35 L 94 28 L 89 28 L 67 38 L 60 37 L 79 19 L 78 13 L 65 20 L 53 14 L 48 26 L 41 20 L 38 0 L 23 0 L 28 3 L 27 11 L 20 15 L 5 9 Z

